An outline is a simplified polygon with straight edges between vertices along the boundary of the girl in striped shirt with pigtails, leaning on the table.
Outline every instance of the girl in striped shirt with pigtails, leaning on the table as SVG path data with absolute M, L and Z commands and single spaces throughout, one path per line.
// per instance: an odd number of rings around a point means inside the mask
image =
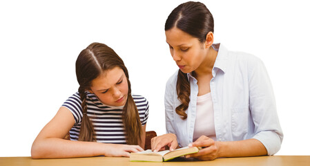
M 39 133 L 32 158 L 128 157 L 143 151 L 148 101 L 131 94 L 122 59 L 105 44 L 93 43 L 75 66 L 79 91 Z M 68 131 L 70 140 L 65 140 Z

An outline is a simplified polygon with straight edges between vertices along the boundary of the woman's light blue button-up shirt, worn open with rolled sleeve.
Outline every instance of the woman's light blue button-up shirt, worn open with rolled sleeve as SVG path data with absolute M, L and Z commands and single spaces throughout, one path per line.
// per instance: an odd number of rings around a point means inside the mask
M 213 44 L 218 51 L 210 82 L 217 141 L 255 138 L 266 147 L 268 154 L 279 151 L 283 139 L 275 107 L 269 75 L 262 61 L 253 55 L 227 50 Z M 188 73 L 191 95 L 187 118 L 177 115 L 177 72 L 166 83 L 166 132 L 175 133 L 180 147 L 193 142 L 198 86 Z

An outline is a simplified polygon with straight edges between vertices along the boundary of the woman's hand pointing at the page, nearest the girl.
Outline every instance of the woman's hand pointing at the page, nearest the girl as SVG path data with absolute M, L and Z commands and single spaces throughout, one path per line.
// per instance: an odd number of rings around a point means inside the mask
M 162 136 L 152 138 L 152 151 L 162 151 L 168 146 L 170 151 L 177 149 L 177 136 L 174 133 L 166 133 Z

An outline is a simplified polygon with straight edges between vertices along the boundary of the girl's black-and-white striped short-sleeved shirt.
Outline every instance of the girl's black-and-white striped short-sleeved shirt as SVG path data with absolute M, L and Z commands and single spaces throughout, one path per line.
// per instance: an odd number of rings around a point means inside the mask
M 103 104 L 93 93 L 86 93 L 87 116 L 93 122 L 97 142 L 126 144 L 124 124 L 122 122 L 122 112 L 124 106 L 112 107 Z M 148 101 L 141 95 L 132 95 L 139 111 L 141 124 L 146 124 L 148 120 Z M 73 94 L 62 107 L 68 108 L 75 118 L 75 124 L 70 129 L 70 140 L 78 140 L 81 119 L 83 113 L 81 109 L 81 98 L 79 93 Z

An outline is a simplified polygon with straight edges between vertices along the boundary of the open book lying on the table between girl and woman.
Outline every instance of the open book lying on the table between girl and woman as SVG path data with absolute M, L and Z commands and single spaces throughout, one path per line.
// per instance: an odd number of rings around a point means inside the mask
M 130 161 L 155 161 L 162 162 L 184 156 L 187 154 L 195 154 L 199 151 L 198 147 L 182 147 L 174 151 L 164 150 L 153 152 L 151 149 L 146 151 L 139 151 L 137 153 L 130 153 Z

